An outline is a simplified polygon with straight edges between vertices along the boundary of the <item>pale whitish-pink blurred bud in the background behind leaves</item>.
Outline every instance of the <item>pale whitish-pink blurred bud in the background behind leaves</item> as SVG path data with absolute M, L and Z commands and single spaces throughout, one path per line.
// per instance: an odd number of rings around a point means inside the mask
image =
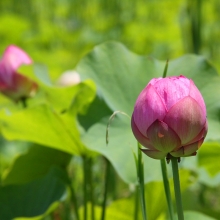
M 74 70 L 64 72 L 58 79 L 60 86 L 73 86 L 80 83 L 80 75 Z

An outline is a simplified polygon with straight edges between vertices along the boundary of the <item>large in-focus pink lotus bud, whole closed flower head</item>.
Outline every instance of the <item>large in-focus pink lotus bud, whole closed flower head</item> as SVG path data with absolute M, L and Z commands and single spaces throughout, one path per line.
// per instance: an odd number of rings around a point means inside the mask
M 195 155 L 208 130 L 203 97 L 184 76 L 152 79 L 136 100 L 131 127 L 149 157 Z

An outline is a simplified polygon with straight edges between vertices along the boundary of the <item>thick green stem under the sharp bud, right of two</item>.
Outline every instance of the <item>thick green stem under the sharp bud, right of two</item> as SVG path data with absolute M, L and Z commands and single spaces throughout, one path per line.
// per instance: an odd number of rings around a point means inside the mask
M 174 182 L 178 220 L 184 220 L 181 190 L 180 190 L 179 170 L 178 170 L 178 158 L 172 157 L 171 161 L 172 161 L 172 169 L 173 169 L 173 182 Z

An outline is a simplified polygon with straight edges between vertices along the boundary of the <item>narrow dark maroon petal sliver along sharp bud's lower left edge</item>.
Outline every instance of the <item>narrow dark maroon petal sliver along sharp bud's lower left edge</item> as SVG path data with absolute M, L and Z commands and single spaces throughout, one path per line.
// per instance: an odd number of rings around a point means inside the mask
M 152 149 L 152 150 L 155 150 L 155 148 L 151 145 L 149 139 L 147 137 L 145 137 L 137 128 L 135 122 L 134 122 L 134 117 L 132 115 L 132 118 L 131 118 L 131 128 L 132 128 L 132 131 L 133 131 L 133 134 L 135 136 L 135 138 L 138 140 L 138 142 L 148 148 L 148 149 Z

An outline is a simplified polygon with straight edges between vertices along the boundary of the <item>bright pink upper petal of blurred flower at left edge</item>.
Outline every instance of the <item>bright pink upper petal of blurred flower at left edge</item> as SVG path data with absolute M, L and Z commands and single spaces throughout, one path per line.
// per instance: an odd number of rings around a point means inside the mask
M 20 48 L 11 45 L 6 48 L 0 60 L 0 81 L 12 85 L 13 74 L 22 64 L 31 64 L 31 58 Z

